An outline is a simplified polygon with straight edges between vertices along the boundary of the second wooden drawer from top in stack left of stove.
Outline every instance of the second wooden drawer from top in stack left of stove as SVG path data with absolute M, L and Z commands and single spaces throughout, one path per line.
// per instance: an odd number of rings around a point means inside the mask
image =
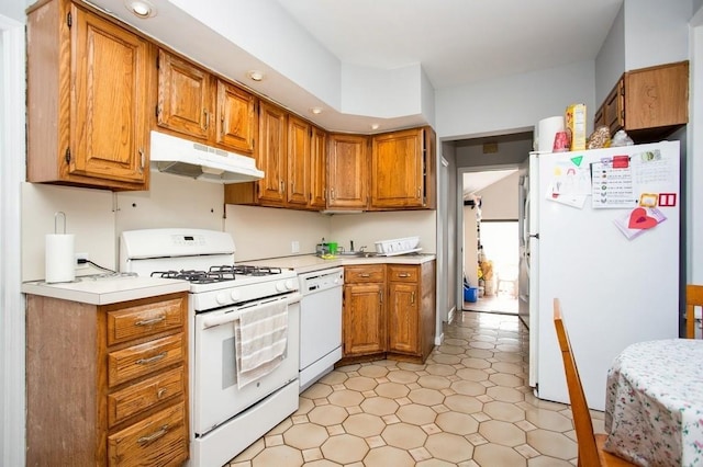
M 108 386 L 178 364 L 186 357 L 182 334 L 156 339 L 108 354 Z

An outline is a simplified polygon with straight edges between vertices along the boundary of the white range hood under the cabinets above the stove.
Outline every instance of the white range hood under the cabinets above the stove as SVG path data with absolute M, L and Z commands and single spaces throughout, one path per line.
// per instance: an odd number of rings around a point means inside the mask
M 214 183 L 244 183 L 264 178 L 254 158 L 152 130 L 152 169 Z

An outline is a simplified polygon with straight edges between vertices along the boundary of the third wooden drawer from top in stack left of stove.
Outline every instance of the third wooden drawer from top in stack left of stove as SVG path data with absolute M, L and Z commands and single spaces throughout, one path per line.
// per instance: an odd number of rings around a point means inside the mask
M 108 424 L 114 426 L 157 403 L 182 396 L 183 367 L 171 369 L 108 396 Z

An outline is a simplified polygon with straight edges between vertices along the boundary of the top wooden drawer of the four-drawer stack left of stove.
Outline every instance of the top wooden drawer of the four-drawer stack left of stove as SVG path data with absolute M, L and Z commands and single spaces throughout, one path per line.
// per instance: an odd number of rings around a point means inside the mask
M 179 329 L 185 297 L 108 311 L 108 345 Z

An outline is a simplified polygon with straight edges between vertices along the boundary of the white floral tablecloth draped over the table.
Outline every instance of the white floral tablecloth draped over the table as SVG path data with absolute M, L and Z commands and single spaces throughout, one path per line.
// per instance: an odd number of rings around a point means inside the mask
M 703 341 L 625 349 L 607 375 L 605 448 L 640 466 L 703 466 Z

